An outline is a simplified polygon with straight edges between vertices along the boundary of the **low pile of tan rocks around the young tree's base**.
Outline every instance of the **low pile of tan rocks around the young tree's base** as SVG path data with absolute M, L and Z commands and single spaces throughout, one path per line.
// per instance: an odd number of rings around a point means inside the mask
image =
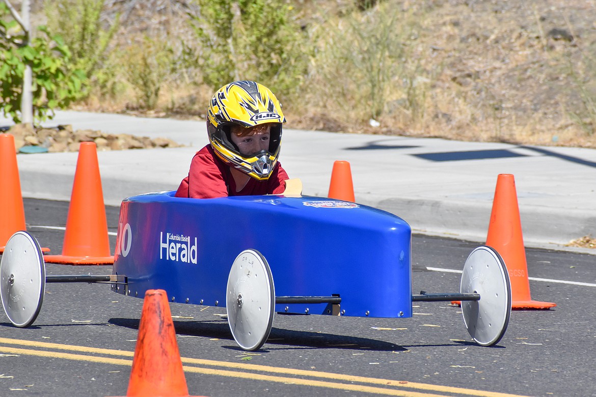
M 70 124 L 55 128 L 34 128 L 30 124 L 16 124 L 2 132 L 14 136 L 17 152 L 76 152 L 80 142 L 95 142 L 98 151 L 177 148 L 178 143 L 167 138 L 107 134 L 95 130 L 76 130 Z M 33 150 L 36 149 L 36 150 Z

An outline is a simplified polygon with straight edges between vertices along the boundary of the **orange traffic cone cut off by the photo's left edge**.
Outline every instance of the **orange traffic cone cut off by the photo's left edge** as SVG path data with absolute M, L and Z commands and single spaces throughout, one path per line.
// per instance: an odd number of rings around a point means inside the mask
M 18 177 L 17 152 L 14 146 L 14 136 L 0 134 L 0 208 L 2 208 L 2 223 L 0 223 L 0 254 L 8 239 L 20 230 L 26 230 L 21 182 Z M 48 252 L 49 248 L 42 248 Z

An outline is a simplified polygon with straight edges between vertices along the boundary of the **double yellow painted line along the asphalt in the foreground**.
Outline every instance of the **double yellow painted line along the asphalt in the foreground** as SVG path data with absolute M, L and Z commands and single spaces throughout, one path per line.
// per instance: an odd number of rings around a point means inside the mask
M 131 352 L 131 351 L 89 348 L 86 346 L 62 345 L 59 343 L 36 342 L 33 340 L 8 339 L 8 338 L 3 338 L 3 337 L 0 337 L 0 343 L 2 343 L 4 345 L 30 346 L 30 347 L 37 347 L 37 348 L 44 348 L 44 349 L 57 349 L 57 350 L 85 352 L 85 353 L 92 353 L 92 354 L 114 355 L 114 356 L 120 356 L 120 357 L 133 357 L 134 356 L 134 352 Z M 41 351 L 41 350 L 34 350 L 34 349 L 21 349 L 21 348 L 14 348 L 14 347 L 8 347 L 8 346 L 0 346 L 0 352 L 4 352 L 4 353 L 8 353 L 8 354 L 33 355 L 33 356 L 37 356 L 37 357 L 61 358 L 63 360 L 97 362 L 100 364 L 128 365 L 128 366 L 132 365 L 132 360 L 127 360 L 124 358 L 97 357 L 97 356 L 91 356 L 91 355 L 72 354 L 72 353 L 64 353 L 64 352 L 56 352 L 56 351 L 52 352 L 52 351 Z M 457 395 L 470 395 L 470 396 L 478 396 L 478 397 L 523 397 L 523 396 L 512 395 L 512 394 L 507 394 L 507 393 L 486 392 L 484 390 L 464 389 L 462 387 L 427 385 L 425 383 L 404 382 L 404 381 L 389 380 L 389 379 L 375 379 L 375 378 L 368 378 L 368 377 L 362 377 L 362 376 L 350 376 L 350 375 L 336 374 L 336 373 L 325 373 L 325 372 L 321 372 L 321 371 L 294 370 L 292 368 L 278 368 L 278 367 L 271 367 L 268 365 L 244 364 L 244 363 L 238 363 L 238 362 L 204 360 L 204 359 L 187 358 L 187 357 L 182 357 L 181 361 L 184 364 L 209 365 L 212 367 L 234 368 L 236 370 L 243 371 L 243 372 L 240 372 L 240 371 L 222 370 L 222 369 L 217 369 L 217 368 L 191 367 L 188 365 L 183 365 L 182 368 L 184 368 L 184 371 L 190 372 L 190 373 L 209 374 L 209 375 L 235 377 L 235 378 L 252 379 L 252 380 L 264 380 L 266 382 L 286 383 L 286 384 L 293 384 L 293 385 L 327 387 L 330 389 L 348 390 L 348 391 L 352 391 L 352 392 L 362 392 L 362 393 L 374 393 L 374 394 L 380 394 L 380 395 L 402 396 L 402 397 L 446 397 L 446 395 L 437 395 L 437 394 L 429 394 L 429 393 L 425 393 L 425 392 L 414 392 L 411 390 L 405 390 L 405 389 L 417 389 L 417 390 L 428 390 L 428 391 L 434 392 L 434 393 L 454 393 Z M 324 379 L 344 381 L 344 382 L 368 383 L 371 385 L 399 387 L 399 389 L 387 389 L 384 387 L 353 385 L 353 384 L 348 384 L 348 383 L 325 382 L 322 380 L 300 379 L 297 377 L 264 375 L 264 374 L 258 374 L 258 373 L 250 373 L 250 372 L 246 372 L 246 371 L 259 371 L 259 372 L 268 372 L 268 373 L 289 374 L 289 375 L 293 375 L 293 376 L 308 376 L 311 378 L 313 378 L 313 377 L 324 378 Z

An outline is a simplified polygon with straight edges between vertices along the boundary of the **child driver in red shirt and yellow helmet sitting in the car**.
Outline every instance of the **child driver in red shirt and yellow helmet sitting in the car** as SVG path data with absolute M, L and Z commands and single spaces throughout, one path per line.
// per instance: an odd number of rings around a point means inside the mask
M 207 111 L 209 145 L 194 155 L 175 196 L 282 193 L 289 179 L 277 161 L 283 123 L 280 102 L 267 87 L 250 81 L 221 87 Z

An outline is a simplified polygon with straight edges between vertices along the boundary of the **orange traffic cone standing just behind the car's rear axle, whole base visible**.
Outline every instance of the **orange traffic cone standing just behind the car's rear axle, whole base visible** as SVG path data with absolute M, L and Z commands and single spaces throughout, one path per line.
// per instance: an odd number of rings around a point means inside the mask
M 114 264 L 94 142 L 79 146 L 62 255 L 45 255 L 44 260 L 68 265 Z

